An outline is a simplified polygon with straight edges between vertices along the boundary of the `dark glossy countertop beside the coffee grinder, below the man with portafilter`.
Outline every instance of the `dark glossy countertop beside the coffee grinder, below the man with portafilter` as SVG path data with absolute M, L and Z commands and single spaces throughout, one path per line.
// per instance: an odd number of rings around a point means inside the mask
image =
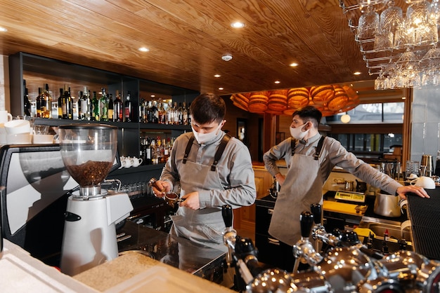
M 217 273 L 221 272 L 218 269 L 225 257 L 225 252 L 220 250 L 195 245 L 185 238 L 175 237 L 129 221 L 117 233 L 131 235 L 130 238 L 119 241 L 119 252 L 127 250 L 146 252 L 157 261 L 202 278 L 215 279 Z

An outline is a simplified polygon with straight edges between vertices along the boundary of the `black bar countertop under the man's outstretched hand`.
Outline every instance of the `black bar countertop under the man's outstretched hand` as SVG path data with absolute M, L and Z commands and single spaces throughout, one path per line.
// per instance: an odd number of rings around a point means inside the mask
M 440 187 L 426 191 L 431 198 L 408 196 L 413 246 L 415 252 L 440 260 Z

